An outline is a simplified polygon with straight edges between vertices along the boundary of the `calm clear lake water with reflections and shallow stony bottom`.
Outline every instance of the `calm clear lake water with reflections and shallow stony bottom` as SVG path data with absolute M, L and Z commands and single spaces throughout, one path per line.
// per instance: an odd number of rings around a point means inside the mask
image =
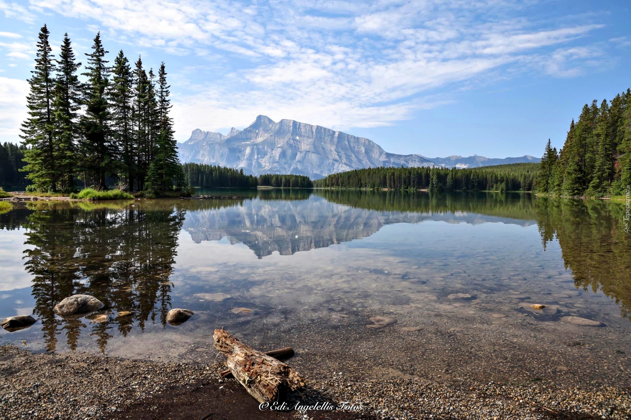
M 628 382 L 631 236 L 621 203 L 215 193 L 230 198 L 40 200 L 0 214 L 0 319 L 38 319 L 0 331 L 2 344 L 203 361 L 213 329 L 224 327 L 261 349 L 293 346 L 304 368 L 358 376 Z M 101 313 L 114 320 L 66 321 L 52 312 L 75 293 L 105 302 Z M 172 307 L 195 315 L 171 326 Z M 122 310 L 133 316 L 115 318 Z M 396 323 L 375 327 L 374 316 Z M 360 372 L 357 360 L 375 368 Z

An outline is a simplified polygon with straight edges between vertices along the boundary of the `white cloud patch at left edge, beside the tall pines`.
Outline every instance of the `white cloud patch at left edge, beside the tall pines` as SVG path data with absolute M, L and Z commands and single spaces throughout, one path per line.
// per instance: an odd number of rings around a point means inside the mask
M 28 83 L 0 77 L 0 140 L 20 141 L 21 123 L 27 118 Z

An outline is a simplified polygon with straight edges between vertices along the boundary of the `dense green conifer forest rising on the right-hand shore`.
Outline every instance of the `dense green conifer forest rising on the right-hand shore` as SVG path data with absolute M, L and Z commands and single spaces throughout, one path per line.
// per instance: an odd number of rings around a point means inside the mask
M 631 89 L 600 105 L 585 104 L 561 150 L 550 140 L 541 158 L 538 191 L 553 195 L 622 195 L 631 185 Z

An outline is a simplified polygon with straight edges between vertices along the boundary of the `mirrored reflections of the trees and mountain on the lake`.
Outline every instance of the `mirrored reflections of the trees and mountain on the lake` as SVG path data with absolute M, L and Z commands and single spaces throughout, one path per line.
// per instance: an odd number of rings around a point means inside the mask
M 630 317 L 631 238 L 622 230 L 620 203 L 529 194 L 407 191 L 250 190 L 230 195 L 227 200 L 104 204 L 38 201 L 0 215 L 0 237 L 3 230 L 24 233 L 23 265 L 30 276 L 33 314 L 42 324 L 45 349 L 55 351 L 59 336 L 64 336 L 74 350 L 80 334 L 90 334 L 104 353 L 117 334 L 126 336 L 134 328 L 144 331 L 148 324 L 165 327 L 172 307 L 175 258 L 187 236 L 182 232 L 198 243 L 227 237 L 231 244 L 245 244 L 261 259 L 274 251 L 292 255 L 370 237 L 390 224 L 425 220 L 537 224 L 542 249 L 558 241 L 575 287 L 603 292 L 623 317 Z M 57 317 L 52 307 L 76 293 L 102 300 L 105 312 L 114 317 L 120 311 L 133 315 L 92 324 L 90 319 Z M 8 297 L 3 300 L 10 302 Z M 15 315 L 13 307 L 3 304 L 0 317 Z M 20 332 L 13 334 L 17 337 Z

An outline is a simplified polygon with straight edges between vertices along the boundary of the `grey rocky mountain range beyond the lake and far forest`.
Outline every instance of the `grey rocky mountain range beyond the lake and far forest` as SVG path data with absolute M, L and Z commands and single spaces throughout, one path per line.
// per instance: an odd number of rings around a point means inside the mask
M 179 144 L 181 162 L 215 164 L 254 175 L 300 174 L 312 179 L 328 174 L 377 166 L 477 167 L 539 162 L 532 156 L 489 159 L 483 156 L 428 158 L 420 154 L 388 153 L 372 140 L 294 120 L 274 122 L 264 115 L 228 135 L 193 130 Z

